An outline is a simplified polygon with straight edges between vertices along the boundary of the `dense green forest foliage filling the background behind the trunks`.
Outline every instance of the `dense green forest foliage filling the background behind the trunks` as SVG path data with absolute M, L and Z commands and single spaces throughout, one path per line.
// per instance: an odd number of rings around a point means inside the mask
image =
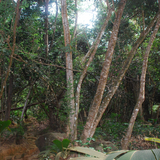
M 60 1 L 50 0 L 49 11 L 46 15 L 46 3 L 43 0 L 22 0 L 19 8 L 20 15 L 16 28 L 15 44 L 13 42 L 13 26 L 17 2 L 12 0 L 0 1 L 1 87 L 3 87 L 3 82 L 7 75 L 12 47 L 16 45 L 10 74 L 1 97 L 0 109 L 2 120 L 12 118 L 18 121 L 22 115 L 23 106 L 26 104 L 25 118 L 29 115 L 36 117 L 39 121 L 48 118 L 52 129 L 65 130 L 66 119 L 70 113 L 70 108 L 67 106 L 69 97 L 66 94 L 69 88 L 67 88 L 66 82 L 65 52 L 72 51 L 73 54 L 74 87 L 76 92 L 76 86 L 84 67 L 82 59 L 98 35 L 103 20 L 106 17 L 107 5 L 104 1 L 87 1 L 86 3 L 90 2 L 95 6 L 97 12 L 93 28 L 78 24 L 76 36 L 73 37 L 75 11 L 77 9 L 73 0 L 67 0 L 68 20 L 71 32 L 70 48 L 64 45 Z M 111 0 L 110 3 L 112 3 Z M 81 2 L 78 5 L 80 6 Z M 116 10 L 118 5 L 119 1 L 114 1 L 114 5 L 112 4 L 111 6 Z M 133 44 L 141 32 L 150 24 L 157 11 L 157 0 L 127 1 L 103 98 L 110 92 L 110 86 L 122 68 L 122 62 L 127 58 Z M 46 28 L 46 17 L 48 17 L 48 28 Z M 94 99 L 114 19 L 115 14 L 112 14 L 101 38 L 94 60 L 89 66 L 83 80 L 80 96 L 79 124 L 86 122 L 90 105 Z M 103 129 L 110 136 L 112 136 L 111 133 L 114 133 L 114 127 L 118 128 L 119 124 L 128 123 L 131 117 L 139 94 L 143 55 L 150 34 L 148 34 L 138 48 L 125 77 L 99 124 L 101 128 L 108 126 L 108 128 Z M 46 35 L 48 36 L 48 54 L 46 54 Z M 159 123 L 159 35 L 160 32 L 158 32 L 150 52 L 146 77 L 146 98 L 142 107 L 143 113 L 138 117 L 143 121 L 145 120 L 153 124 Z M 153 110 L 154 105 L 157 105 L 157 107 Z M 6 112 L 4 112 L 5 110 Z M 9 117 L 7 114 L 9 114 Z M 118 122 L 118 126 L 110 124 L 110 118 Z M 124 127 L 124 125 L 121 127 Z M 113 137 L 116 138 L 117 134 L 120 134 L 120 132 L 116 131 Z

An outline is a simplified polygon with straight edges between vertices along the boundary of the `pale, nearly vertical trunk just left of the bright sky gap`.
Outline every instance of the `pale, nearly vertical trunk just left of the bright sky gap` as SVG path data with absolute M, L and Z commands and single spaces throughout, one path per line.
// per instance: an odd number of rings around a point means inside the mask
M 72 52 L 70 51 L 70 30 L 67 17 L 67 3 L 66 0 L 61 0 L 62 23 L 64 30 L 64 41 L 67 48 L 66 51 L 66 79 L 67 79 L 67 95 L 68 95 L 68 108 L 71 110 L 69 115 L 69 127 L 67 134 L 70 139 L 74 140 L 76 130 L 75 126 L 75 106 L 74 106 L 74 88 L 73 88 L 73 63 Z

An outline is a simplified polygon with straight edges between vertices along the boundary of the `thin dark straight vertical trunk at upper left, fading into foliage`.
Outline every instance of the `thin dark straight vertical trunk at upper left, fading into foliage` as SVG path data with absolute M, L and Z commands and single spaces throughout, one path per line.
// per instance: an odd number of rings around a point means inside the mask
M 49 0 L 45 0 L 45 45 L 46 45 L 46 57 L 48 57 L 48 3 Z

